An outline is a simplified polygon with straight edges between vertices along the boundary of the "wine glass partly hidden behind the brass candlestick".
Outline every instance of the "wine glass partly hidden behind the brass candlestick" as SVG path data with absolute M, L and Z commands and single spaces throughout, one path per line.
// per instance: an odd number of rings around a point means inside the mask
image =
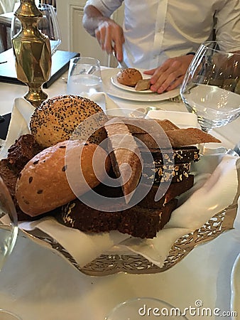
M 52 55 L 58 50 L 61 41 L 60 27 L 55 8 L 50 4 L 39 4 L 43 17 L 38 20 L 38 30 L 48 36 Z M 11 20 L 11 39 L 21 31 L 21 21 L 16 16 Z

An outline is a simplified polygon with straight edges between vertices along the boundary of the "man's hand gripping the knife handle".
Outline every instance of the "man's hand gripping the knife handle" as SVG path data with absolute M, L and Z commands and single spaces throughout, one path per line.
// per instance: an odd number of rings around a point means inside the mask
M 116 53 L 116 58 L 121 62 L 123 60 L 123 43 L 124 43 L 124 31 L 111 19 L 103 21 L 99 24 L 95 30 L 95 37 L 99 42 L 102 50 L 107 51 L 108 54 L 112 53 L 112 50 Z

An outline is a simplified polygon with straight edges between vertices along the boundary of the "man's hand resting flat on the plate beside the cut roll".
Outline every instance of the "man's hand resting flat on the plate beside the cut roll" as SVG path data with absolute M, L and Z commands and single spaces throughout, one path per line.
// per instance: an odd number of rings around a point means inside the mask
M 156 69 L 146 70 L 146 75 L 151 77 L 151 90 L 162 93 L 178 87 L 182 83 L 188 66 L 194 55 L 182 55 L 181 57 L 169 58 Z

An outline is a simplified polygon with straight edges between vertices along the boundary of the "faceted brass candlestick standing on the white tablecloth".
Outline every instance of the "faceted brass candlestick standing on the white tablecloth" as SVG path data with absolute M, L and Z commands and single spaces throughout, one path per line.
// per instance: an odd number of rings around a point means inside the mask
M 42 86 L 52 66 L 50 40 L 38 30 L 43 14 L 34 0 L 21 0 L 14 15 L 21 21 L 21 30 L 12 38 L 17 78 L 28 85 L 24 98 L 38 107 L 48 97 Z

